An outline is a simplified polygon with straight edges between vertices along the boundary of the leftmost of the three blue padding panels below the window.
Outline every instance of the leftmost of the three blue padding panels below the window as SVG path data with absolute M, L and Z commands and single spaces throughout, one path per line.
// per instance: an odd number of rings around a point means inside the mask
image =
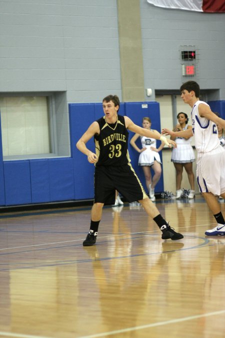
M 31 186 L 29 161 L 5 161 L 5 205 L 30 204 Z

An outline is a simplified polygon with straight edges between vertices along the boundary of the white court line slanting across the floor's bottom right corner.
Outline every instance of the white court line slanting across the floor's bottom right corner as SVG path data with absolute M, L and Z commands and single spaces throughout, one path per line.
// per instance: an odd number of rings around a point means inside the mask
M 82 335 L 82 336 L 79 336 L 79 338 L 105 337 L 106 335 L 130 332 L 130 331 L 135 331 L 135 330 L 140 330 L 140 329 L 145 329 L 145 328 L 150 328 L 150 327 L 155 327 L 155 326 L 175 324 L 175 323 L 179 323 L 179 322 L 186 321 L 186 320 L 193 320 L 193 319 L 198 319 L 198 318 L 202 318 L 202 317 L 209 317 L 211 315 L 222 314 L 222 313 L 225 313 L 225 309 L 220 310 L 220 311 L 203 313 L 203 314 L 191 315 L 191 316 L 183 317 L 183 318 L 170 319 L 170 320 L 165 320 L 165 321 L 158 321 L 156 323 L 151 323 L 151 324 L 146 324 L 146 325 L 127 327 L 127 328 L 123 328 L 123 329 L 120 329 L 120 330 L 107 331 L 107 332 L 103 332 L 103 333 L 95 333 L 95 334 L 90 334 L 90 335 Z

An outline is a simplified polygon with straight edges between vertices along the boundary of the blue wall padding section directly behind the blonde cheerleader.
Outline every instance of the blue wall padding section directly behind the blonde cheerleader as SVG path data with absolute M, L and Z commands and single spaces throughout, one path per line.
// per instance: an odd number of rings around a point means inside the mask
M 142 127 L 142 118 L 149 117 L 151 119 L 151 128 L 157 130 L 160 133 L 160 112 L 159 104 L 157 102 L 128 102 L 125 103 L 125 115 L 129 117 L 136 125 Z M 129 141 L 134 133 L 129 131 Z M 136 145 L 141 148 L 139 139 L 136 142 Z M 160 141 L 157 141 L 157 148 L 160 145 Z M 145 185 L 145 179 L 143 175 L 143 170 L 138 166 L 138 157 L 139 153 L 133 149 L 129 144 L 128 146 L 129 156 L 131 159 L 131 164 L 135 170 L 137 176 L 139 177 L 144 189 L 147 192 L 147 187 Z M 159 153 L 160 158 L 162 159 L 161 152 Z M 153 171 L 151 170 L 151 175 L 153 176 Z M 155 192 L 162 192 L 163 188 L 163 173 L 161 174 L 160 180 L 155 186 Z

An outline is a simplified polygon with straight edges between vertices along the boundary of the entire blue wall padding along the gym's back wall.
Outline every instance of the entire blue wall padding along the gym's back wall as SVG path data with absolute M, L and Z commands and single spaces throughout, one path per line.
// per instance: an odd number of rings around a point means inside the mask
M 225 119 L 225 101 L 210 101 L 208 104 L 212 111 Z M 141 126 L 142 118 L 148 116 L 152 129 L 161 130 L 157 102 L 122 103 L 119 114 L 130 117 L 138 126 Z M 102 103 L 69 104 L 71 158 L 3 161 L 0 134 L 0 205 L 92 199 L 94 165 L 87 161 L 87 156 L 78 151 L 75 144 L 89 125 L 103 115 Z M 132 135 L 129 132 L 129 139 Z M 157 147 L 159 144 L 158 141 Z M 141 147 L 139 139 L 137 145 Z M 93 138 L 86 146 L 94 152 Z M 146 189 L 142 168 L 138 166 L 139 153 L 131 145 L 128 149 L 132 167 Z M 162 174 L 155 192 L 163 190 Z

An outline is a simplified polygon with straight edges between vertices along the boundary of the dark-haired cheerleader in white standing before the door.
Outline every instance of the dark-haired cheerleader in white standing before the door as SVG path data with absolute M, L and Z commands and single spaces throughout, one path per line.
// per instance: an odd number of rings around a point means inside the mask
M 191 126 L 187 125 L 188 118 L 185 113 L 179 113 L 177 115 L 178 124 L 173 128 L 174 132 L 191 129 Z M 175 140 L 176 148 L 172 149 L 171 161 L 174 164 L 176 170 L 176 198 L 180 198 L 182 195 L 181 181 L 183 167 L 187 173 L 188 181 L 190 183 L 190 192 L 188 198 L 194 198 L 194 174 L 192 170 L 192 162 L 195 161 L 194 152 L 191 146 L 192 137 L 170 137 L 171 140 Z

